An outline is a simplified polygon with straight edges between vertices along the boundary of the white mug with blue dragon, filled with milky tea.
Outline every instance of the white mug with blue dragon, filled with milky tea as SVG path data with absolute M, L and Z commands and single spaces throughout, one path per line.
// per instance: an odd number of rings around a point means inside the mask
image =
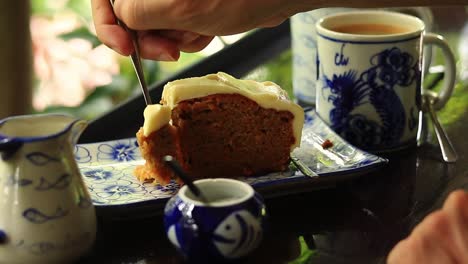
M 445 57 L 435 109 L 450 98 L 455 59 L 442 36 L 417 17 L 390 11 L 351 11 L 316 24 L 317 113 L 349 143 L 384 152 L 416 144 L 424 45 Z

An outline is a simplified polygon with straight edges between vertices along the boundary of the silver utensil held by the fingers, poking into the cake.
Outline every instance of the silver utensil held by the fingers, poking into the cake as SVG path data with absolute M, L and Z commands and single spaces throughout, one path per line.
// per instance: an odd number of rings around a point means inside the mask
M 114 12 L 114 0 L 110 0 L 110 3 L 112 6 L 112 12 Z M 134 30 L 129 29 L 125 25 L 125 23 L 120 21 L 120 19 L 117 18 L 115 13 L 114 13 L 114 17 L 115 17 L 115 20 L 117 21 L 117 24 L 123 27 L 131 35 L 134 51 L 132 52 L 132 54 L 130 54 L 130 57 L 132 59 L 133 68 L 135 69 L 135 72 L 138 77 L 138 81 L 140 82 L 140 87 L 141 87 L 141 90 L 143 91 L 143 97 L 145 98 L 146 104 L 147 105 L 152 104 L 151 97 L 148 92 L 148 87 L 146 86 L 146 82 L 145 82 L 145 75 L 143 73 L 143 67 L 141 66 L 140 49 L 138 46 L 138 36 Z

